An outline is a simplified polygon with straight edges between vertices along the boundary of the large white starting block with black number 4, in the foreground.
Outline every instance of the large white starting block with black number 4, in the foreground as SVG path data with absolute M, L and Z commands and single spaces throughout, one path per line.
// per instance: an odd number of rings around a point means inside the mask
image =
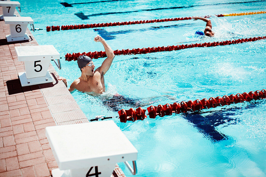
M 46 127 L 59 168 L 53 177 L 110 177 L 118 162 L 136 174 L 138 151 L 112 120 Z M 127 161 L 133 161 L 134 170 Z

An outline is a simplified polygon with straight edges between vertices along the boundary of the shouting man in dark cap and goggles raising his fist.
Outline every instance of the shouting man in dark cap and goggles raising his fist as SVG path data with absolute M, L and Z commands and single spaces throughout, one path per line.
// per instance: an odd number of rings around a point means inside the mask
M 81 76 L 74 80 L 70 85 L 69 91 L 73 92 L 78 90 L 81 92 L 91 93 L 91 94 L 102 94 L 105 91 L 104 85 L 104 75 L 109 70 L 113 60 L 114 52 L 111 47 L 105 42 L 101 36 L 94 37 L 95 42 L 101 42 L 107 58 L 103 61 L 102 65 L 94 70 L 95 65 L 90 57 L 82 55 L 78 57 L 77 63 L 78 68 L 80 68 Z M 66 79 L 60 77 L 58 80 L 62 80 L 67 87 Z

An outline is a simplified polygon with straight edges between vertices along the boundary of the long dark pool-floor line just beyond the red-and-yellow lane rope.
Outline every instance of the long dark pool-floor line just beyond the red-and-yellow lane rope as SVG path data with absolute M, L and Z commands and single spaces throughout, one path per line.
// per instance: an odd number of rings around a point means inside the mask
M 83 12 L 78 12 L 77 15 L 81 20 L 87 20 L 90 16 L 100 16 L 100 15 L 110 15 L 110 14 L 124 14 L 124 13 L 131 13 L 131 12 L 140 12 L 140 11 L 152 11 L 152 10 L 167 10 L 167 9 L 182 9 L 182 8 L 190 8 L 196 6 L 213 6 L 213 5 L 224 5 L 224 4 L 240 4 L 240 3 L 251 3 L 251 2 L 265 2 L 266 0 L 259 0 L 259 1 L 248 1 L 248 2 L 228 2 L 228 3 L 218 3 L 218 4 L 205 4 L 205 5 L 192 5 L 192 6 L 181 6 L 181 7 L 167 7 L 167 8 L 157 8 L 157 9 L 143 9 L 143 10 L 135 10 L 135 11 L 127 11 L 127 12 L 108 12 L 108 13 L 98 13 L 98 14 L 91 14 L 85 15 Z

